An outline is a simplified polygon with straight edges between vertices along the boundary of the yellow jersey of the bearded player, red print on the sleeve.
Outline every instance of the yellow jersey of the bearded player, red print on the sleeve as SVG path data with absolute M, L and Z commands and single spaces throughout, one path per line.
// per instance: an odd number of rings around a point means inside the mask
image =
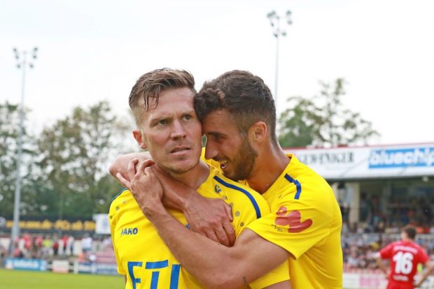
M 325 179 L 288 157 L 286 169 L 262 194 L 271 213 L 247 228 L 294 256 L 292 288 L 342 288 L 342 215 L 335 194 Z

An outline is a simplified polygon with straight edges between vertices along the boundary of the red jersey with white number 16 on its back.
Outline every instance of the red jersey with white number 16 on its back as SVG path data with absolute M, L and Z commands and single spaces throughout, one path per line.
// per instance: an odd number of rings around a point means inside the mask
M 398 241 L 381 249 L 382 259 L 391 259 L 391 273 L 388 276 L 388 287 L 414 288 L 413 278 L 419 263 L 429 260 L 425 249 L 414 242 Z

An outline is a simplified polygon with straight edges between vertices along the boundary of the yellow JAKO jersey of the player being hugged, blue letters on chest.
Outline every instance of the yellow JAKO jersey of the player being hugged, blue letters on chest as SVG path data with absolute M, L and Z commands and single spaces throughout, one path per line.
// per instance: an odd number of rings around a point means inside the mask
M 232 206 L 236 235 L 246 225 L 269 214 L 267 202 L 247 186 L 224 177 L 210 167 L 209 177 L 197 192 L 207 198 L 222 198 Z M 189 225 L 182 212 L 169 209 L 178 221 Z M 109 220 L 118 273 L 127 276 L 125 288 L 203 288 L 169 251 L 153 224 L 141 212 L 130 191 L 122 191 L 110 206 Z M 212 272 L 210 272 L 212 274 Z M 250 284 L 263 288 L 289 279 L 288 262 Z

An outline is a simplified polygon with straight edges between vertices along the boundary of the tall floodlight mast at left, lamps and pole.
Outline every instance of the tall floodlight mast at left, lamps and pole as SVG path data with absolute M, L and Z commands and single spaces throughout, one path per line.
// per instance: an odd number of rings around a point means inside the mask
M 15 59 L 17 59 L 17 68 L 22 69 L 22 82 L 21 82 L 21 103 L 20 103 L 20 127 L 18 128 L 18 156 L 17 156 L 17 170 L 15 179 L 15 199 L 13 202 L 13 226 L 10 234 L 10 251 L 13 253 L 15 250 L 15 239 L 20 236 L 20 202 L 21 202 L 21 158 L 22 158 L 22 131 L 24 122 L 24 96 L 25 96 L 25 83 L 26 83 L 26 68 L 34 68 L 31 61 L 27 61 L 27 54 L 29 52 L 23 50 L 19 52 L 17 48 L 13 48 Z M 33 59 L 36 59 L 38 48 L 34 47 L 32 51 Z

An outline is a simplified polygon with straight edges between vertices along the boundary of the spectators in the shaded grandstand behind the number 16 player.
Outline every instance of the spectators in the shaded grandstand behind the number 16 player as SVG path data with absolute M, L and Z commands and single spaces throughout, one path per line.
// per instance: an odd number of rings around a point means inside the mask
M 360 194 L 358 223 L 349 223 L 349 207 L 341 203 L 342 250 L 344 269 L 377 269 L 374 253 L 400 239 L 400 230 L 411 224 L 416 228 L 416 243 L 426 249 L 434 260 L 434 202 L 426 195 L 405 201 L 394 197 L 387 210 L 381 210 L 377 196 Z

